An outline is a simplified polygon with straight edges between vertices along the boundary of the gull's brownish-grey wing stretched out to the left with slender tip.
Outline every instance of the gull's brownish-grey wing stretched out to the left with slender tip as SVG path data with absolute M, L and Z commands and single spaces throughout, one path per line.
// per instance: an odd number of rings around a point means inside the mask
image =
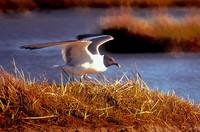
M 91 41 L 87 40 L 74 40 L 74 41 L 61 41 L 61 42 L 50 42 L 43 44 L 31 44 L 25 45 L 21 48 L 24 49 L 40 49 L 50 46 L 62 46 L 62 57 L 66 64 L 75 66 L 83 64 L 85 62 L 92 62 L 90 57 L 91 53 L 88 51 L 88 46 Z

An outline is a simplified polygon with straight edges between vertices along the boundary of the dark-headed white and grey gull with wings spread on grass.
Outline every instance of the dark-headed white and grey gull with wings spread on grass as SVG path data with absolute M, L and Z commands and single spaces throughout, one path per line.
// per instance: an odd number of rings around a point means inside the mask
M 78 40 L 49 42 L 43 44 L 24 45 L 23 49 L 41 49 L 51 46 L 61 46 L 64 65 L 55 65 L 67 75 L 87 77 L 88 74 L 102 73 L 109 66 L 120 67 L 117 61 L 109 55 L 101 55 L 99 47 L 107 41 L 113 40 L 111 35 L 86 35 Z

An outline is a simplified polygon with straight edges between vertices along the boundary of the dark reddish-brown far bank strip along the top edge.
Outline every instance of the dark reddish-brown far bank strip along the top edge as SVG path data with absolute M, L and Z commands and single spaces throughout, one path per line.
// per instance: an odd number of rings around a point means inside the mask
M 27 11 L 36 8 L 67 7 L 199 7 L 199 0 L 0 0 L 0 11 Z

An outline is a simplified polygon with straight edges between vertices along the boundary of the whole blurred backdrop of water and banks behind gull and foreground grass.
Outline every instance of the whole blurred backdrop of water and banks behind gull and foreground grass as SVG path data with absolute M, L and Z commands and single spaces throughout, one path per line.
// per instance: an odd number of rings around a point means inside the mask
M 0 0 L 0 65 L 40 81 L 59 81 L 60 49 L 22 50 L 26 44 L 110 34 L 101 47 L 122 65 L 104 74 L 132 78 L 152 88 L 200 102 L 200 0 Z

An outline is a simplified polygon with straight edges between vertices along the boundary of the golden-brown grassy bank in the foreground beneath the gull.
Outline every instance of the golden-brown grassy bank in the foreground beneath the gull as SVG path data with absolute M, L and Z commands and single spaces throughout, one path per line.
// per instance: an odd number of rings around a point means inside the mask
M 199 106 L 139 78 L 57 85 L 0 74 L 0 130 L 200 130 Z

